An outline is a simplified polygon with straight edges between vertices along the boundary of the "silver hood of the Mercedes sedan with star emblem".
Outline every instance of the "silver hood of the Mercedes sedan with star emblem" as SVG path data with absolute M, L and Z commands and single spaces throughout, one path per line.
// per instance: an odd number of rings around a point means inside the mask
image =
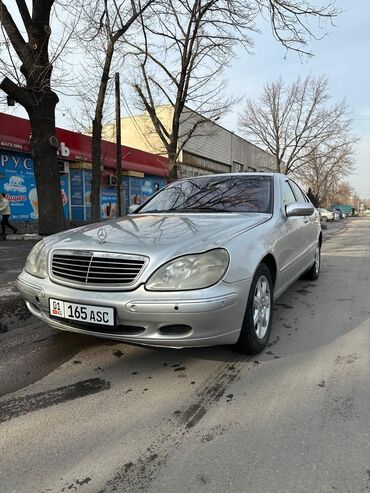
M 219 247 L 270 218 L 270 214 L 256 213 L 136 214 L 58 233 L 44 241 L 52 249 L 149 256 L 168 250 L 176 256 Z M 103 242 L 98 237 L 101 229 L 106 233 Z

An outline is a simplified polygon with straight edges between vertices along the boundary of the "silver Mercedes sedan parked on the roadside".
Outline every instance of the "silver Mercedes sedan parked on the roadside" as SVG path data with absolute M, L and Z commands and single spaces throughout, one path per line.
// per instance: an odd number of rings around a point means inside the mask
M 40 241 L 18 278 L 51 326 L 167 347 L 268 342 L 273 302 L 320 272 L 319 214 L 285 175 L 171 183 L 123 219 Z

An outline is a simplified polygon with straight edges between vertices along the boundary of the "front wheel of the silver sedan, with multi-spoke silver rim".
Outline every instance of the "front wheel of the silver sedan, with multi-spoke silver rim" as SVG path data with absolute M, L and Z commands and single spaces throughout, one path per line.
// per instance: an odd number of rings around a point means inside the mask
M 273 313 L 273 283 L 265 264 L 260 264 L 249 290 L 247 308 L 235 349 L 241 353 L 263 351 L 270 337 Z M 263 301 L 258 301 L 258 299 Z

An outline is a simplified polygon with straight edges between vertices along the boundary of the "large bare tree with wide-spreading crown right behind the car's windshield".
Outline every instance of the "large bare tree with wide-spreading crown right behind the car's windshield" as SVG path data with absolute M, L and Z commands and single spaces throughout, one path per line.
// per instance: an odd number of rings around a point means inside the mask
M 310 55 L 307 41 L 318 36 L 309 20 L 331 20 L 337 11 L 332 2 L 314 7 L 305 0 L 170 0 L 154 25 L 142 23 L 142 45 L 132 43 L 141 72 L 134 88 L 167 152 L 170 178 L 185 143 L 236 101 L 223 97 L 223 70 L 237 44 L 252 46 L 260 14 L 287 49 Z M 170 122 L 161 117 L 163 104 L 172 108 Z

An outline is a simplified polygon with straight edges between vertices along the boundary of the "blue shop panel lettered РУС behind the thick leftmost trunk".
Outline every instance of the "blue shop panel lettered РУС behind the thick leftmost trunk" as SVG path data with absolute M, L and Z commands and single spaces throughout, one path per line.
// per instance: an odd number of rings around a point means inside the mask
M 6 193 L 14 221 L 34 221 L 39 217 L 33 161 L 28 154 L 0 150 L 0 192 Z M 68 181 L 61 177 L 64 213 L 68 216 Z

